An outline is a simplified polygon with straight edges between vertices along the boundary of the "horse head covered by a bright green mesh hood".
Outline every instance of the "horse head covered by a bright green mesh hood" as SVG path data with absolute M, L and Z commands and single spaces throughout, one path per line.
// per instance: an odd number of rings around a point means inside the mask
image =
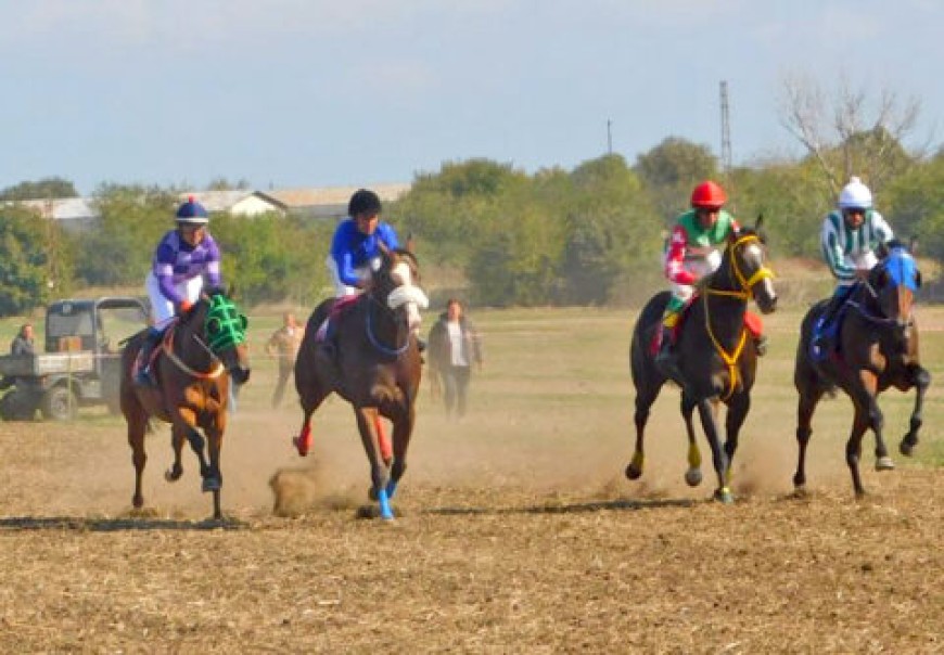
M 187 317 L 187 322 L 202 336 L 206 348 L 222 363 L 235 384 L 248 381 L 248 319 L 225 291 L 211 290 L 204 294 Z

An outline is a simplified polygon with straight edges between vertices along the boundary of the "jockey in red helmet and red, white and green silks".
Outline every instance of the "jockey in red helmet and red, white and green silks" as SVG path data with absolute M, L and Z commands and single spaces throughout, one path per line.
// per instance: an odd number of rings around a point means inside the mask
M 698 184 L 691 193 L 691 209 L 678 217 L 665 254 L 665 277 L 672 283 L 672 297 L 662 314 L 662 335 L 655 361 L 671 364 L 675 328 L 681 310 L 694 294 L 694 285 L 713 273 L 722 262 L 719 245 L 740 227 L 723 209 L 728 196 L 711 180 Z M 764 337 L 757 337 L 757 354 L 766 351 Z

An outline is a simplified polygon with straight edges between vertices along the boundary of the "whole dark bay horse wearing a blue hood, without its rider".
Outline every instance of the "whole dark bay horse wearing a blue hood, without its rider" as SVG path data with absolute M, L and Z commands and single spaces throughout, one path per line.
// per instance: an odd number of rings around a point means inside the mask
M 844 307 L 837 312 L 835 349 L 817 354 L 811 346 L 828 299 L 814 305 L 803 318 L 793 375 L 800 395 L 796 409 L 800 457 L 793 475 L 798 491 L 803 491 L 806 485 L 806 447 L 813 434 L 813 412 L 824 395 L 832 395 L 837 387 L 849 395 L 855 409 L 845 462 L 856 497 L 865 493 L 858 463 L 866 431 L 871 429 L 876 436 L 876 470 L 895 466 L 882 436 L 884 419 L 878 406 L 878 395 L 886 388 L 917 389 L 908 432 L 898 450 L 910 457 L 918 444 L 924 393 L 931 384 L 931 374 L 920 363 L 914 314 L 921 272 L 915 258 L 896 241 L 879 254 L 882 256 L 879 264 L 866 280 L 855 285 Z

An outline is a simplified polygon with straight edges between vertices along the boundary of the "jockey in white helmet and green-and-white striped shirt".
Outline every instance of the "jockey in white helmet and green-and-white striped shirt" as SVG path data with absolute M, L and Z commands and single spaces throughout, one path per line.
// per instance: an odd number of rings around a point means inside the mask
M 892 228 L 872 208 L 869 188 L 859 178 L 850 178 L 849 184 L 839 194 L 838 209 L 830 211 L 822 221 L 819 236 L 822 256 L 837 285 L 817 323 L 814 337 L 816 348 L 826 350 L 830 341 L 827 328 L 856 283 L 868 278 L 869 271 L 879 262 L 876 248 L 893 237 Z

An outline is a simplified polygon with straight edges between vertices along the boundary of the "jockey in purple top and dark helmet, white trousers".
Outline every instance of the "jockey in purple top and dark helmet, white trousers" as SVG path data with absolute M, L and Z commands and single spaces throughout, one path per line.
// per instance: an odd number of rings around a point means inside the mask
M 153 385 L 150 363 L 164 330 L 175 317 L 184 313 L 200 299 L 204 278 L 209 286 L 220 285 L 219 248 L 206 230 L 209 215 L 191 196 L 177 209 L 177 229 L 157 244 L 151 271 L 144 283 L 151 299 L 153 323 L 141 347 L 136 382 Z

